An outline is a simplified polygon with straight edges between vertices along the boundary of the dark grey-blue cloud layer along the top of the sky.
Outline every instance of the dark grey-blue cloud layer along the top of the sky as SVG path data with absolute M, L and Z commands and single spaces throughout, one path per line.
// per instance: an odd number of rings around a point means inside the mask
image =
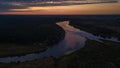
M 59 6 L 100 2 L 117 2 L 117 0 L 0 0 L 0 12 L 10 9 L 23 9 L 30 6 Z

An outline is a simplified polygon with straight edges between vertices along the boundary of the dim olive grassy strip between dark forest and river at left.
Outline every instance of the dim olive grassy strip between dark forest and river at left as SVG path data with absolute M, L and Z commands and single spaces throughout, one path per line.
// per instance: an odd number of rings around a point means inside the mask
M 0 57 L 20 56 L 29 53 L 45 51 L 47 46 L 44 45 L 28 45 L 28 44 L 0 44 Z

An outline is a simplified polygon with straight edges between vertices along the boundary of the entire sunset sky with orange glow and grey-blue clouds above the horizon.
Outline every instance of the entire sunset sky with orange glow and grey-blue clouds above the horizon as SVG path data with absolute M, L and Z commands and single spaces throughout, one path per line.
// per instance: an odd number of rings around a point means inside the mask
M 0 14 L 120 14 L 120 0 L 0 0 Z

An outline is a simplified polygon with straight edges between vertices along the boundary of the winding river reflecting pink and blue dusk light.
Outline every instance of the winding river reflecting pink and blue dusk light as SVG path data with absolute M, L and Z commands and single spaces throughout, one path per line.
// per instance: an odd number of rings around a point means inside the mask
M 56 24 L 65 30 L 64 40 L 60 41 L 58 44 L 52 47 L 49 47 L 44 52 L 26 54 L 24 56 L 3 57 L 0 58 L 0 62 L 1 63 L 10 63 L 18 61 L 24 62 L 50 56 L 58 58 L 63 55 L 68 55 L 84 47 L 87 39 L 96 40 L 99 42 L 102 42 L 100 39 L 119 42 L 116 38 L 102 38 L 100 36 L 94 36 L 91 33 L 74 28 L 69 25 L 69 21 L 57 22 Z

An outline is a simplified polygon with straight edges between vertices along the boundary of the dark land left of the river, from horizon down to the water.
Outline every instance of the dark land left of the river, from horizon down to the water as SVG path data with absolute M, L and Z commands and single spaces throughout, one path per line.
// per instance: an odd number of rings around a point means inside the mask
M 36 16 L 0 16 L 0 57 L 42 52 L 59 43 L 65 32 L 55 22 Z

